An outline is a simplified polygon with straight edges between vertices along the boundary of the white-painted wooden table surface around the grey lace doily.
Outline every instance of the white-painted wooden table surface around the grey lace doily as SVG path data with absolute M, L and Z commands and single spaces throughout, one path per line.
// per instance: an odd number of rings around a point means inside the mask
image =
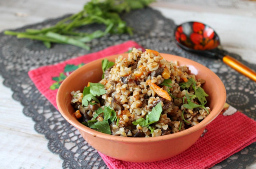
M 87 0 L 88 1 L 88 0 Z M 85 0 L 0 0 L 0 31 L 42 22 L 82 9 Z M 247 0 L 159 1 L 151 5 L 176 24 L 204 22 L 221 37 L 224 49 L 256 64 L 256 2 Z M 34 130 L 0 76 L 0 168 L 56 169 L 62 160 L 47 148 L 48 140 Z M 256 169 L 256 163 L 248 169 Z

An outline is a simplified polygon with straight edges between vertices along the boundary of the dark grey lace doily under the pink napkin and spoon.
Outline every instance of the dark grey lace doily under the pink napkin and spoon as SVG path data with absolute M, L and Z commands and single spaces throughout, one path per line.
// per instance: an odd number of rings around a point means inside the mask
M 55 24 L 62 18 L 46 20 L 15 31 L 22 31 L 26 28 L 43 28 Z M 127 40 L 134 40 L 145 48 L 155 49 L 162 53 L 180 55 L 209 67 L 226 86 L 227 102 L 250 118 L 256 119 L 255 82 L 240 75 L 220 60 L 203 58 L 187 53 L 177 47 L 173 41 L 174 22 L 164 18 L 156 10 L 151 8 L 136 10 L 129 14 L 124 14 L 123 18 L 128 22 L 129 26 L 134 28 L 134 35 L 108 35 L 94 39 L 88 43 L 91 51 L 71 45 L 58 44 L 53 45 L 51 49 L 46 49 L 41 42 L 16 39 L 16 37 L 0 33 L 0 74 L 5 79 L 4 85 L 12 89 L 14 92 L 13 98 L 20 101 L 24 106 L 23 113 L 36 122 L 34 129 L 49 140 L 49 150 L 60 155 L 64 169 L 104 169 L 107 167 L 97 151 L 90 147 L 80 136 L 78 130 L 66 122 L 54 106 L 37 90 L 28 77 L 28 71 L 86 53 L 100 51 Z M 99 28 L 103 29 L 102 26 L 95 24 L 81 29 L 93 31 Z M 240 56 L 236 54 L 230 55 L 242 61 Z M 256 65 L 245 61 L 242 62 L 256 70 Z M 255 152 L 256 143 L 253 143 L 215 167 L 246 168 L 256 160 Z

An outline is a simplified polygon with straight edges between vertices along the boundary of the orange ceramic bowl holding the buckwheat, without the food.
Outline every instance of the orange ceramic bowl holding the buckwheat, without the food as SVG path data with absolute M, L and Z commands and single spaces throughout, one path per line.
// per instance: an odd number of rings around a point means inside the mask
M 128 57 L 128 53 L 122 54 Z M 208 106 L 211 108 L 210 114 L 196 126 L 184 131 L 158 136 L 153 138 L 130 138 L 104 134 L 90 129 L 76 120 L 72 116 L 74 112 L 70 104 L 72 90 L 83 90 L 88 82 L 98 83 L 102 77 L 102 59 L 92 61 L 69 75 L 60 85 L 57 93 L 57 105 L 62 116 L 74 127 L 76 127 L 84 140 L 92 147 L 110 157 L 132 162 L 150 162 L 167 159 L 182 153 L 198 140 L 207 124 L 212 122 L 222 110 L 226 101 L 226 90 L 219 79 L 207 67 L 196 63 L 190 59 L 161 53 L 162 57 L 170 61 L 178 61 L 180 65 L 187 65 L 196 78 L 206 81 L 203 88 L 206 93 Z M 110 61 L 115 61 L 119 55 L 106 57 Z

